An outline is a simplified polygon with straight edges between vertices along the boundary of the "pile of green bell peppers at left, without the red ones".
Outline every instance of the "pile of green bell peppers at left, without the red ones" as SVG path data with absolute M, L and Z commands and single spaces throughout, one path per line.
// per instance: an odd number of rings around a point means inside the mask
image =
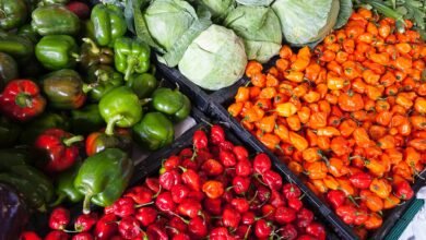
M 87 213 L 91 203 L 108 206 L 122 194 L 133 144 L 146 151 L 171 144 L 191 103 L 161 86 L 151 50 L 129 37 L 122 9 L 98 3 L 83 14 L 67 3 L 0 2 L 0 92 L 21 79 L 46 99 L 39 112 L 20 109 L 35 116 L 25 122 L 0 109 L 0 182 L 14 185 L 33 209 L 84 202 Z M 85 137 L 75 164 L 55 176 L 31 159 L 37 137 L 54 128 Z

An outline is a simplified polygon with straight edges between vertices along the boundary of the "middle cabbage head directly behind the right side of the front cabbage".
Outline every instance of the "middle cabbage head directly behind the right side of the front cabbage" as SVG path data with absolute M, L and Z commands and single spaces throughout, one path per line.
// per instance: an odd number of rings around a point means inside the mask
M 249 60 L 267 62 L 279 53 L 283 40 L 281 24 L 271 8 L 239 5 L 224 24 L 242 38 Z

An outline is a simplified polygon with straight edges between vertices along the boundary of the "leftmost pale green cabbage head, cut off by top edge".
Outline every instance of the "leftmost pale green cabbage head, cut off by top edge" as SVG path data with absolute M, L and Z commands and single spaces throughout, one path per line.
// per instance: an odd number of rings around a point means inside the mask
M 154 0 L 143 16 L 151 37 L 165 51 L 169 51 L 197 20 L 192 5 L 184 0 Z

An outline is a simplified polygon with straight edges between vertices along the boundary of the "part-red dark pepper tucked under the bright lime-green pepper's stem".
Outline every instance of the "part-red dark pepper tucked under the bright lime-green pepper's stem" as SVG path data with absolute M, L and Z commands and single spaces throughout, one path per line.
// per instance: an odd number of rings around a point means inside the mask
M 128 129 L 116 129 L 114 135 L 93 132 L 86 137 L 86 155 L 93 156 L 106 148 L 119 148 L 128 154 L 132 149 L 132 135 Z

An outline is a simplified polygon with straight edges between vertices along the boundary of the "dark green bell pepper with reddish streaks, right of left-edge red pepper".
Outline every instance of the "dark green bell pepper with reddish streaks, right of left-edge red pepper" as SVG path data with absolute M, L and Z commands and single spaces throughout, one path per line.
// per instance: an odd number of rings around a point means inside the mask
M 42 81 L 43 92 L 49 99 L 49 106 L 64 110 L 83 106 L 86 99 L 83 81 L 74 70 L 58 70 L 47 74 Z

